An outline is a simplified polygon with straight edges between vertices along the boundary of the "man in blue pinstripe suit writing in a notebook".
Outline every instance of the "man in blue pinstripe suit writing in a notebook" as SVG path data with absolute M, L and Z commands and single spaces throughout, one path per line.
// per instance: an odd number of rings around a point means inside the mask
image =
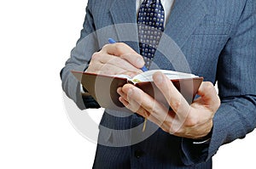
M 137 24 L 143 23 L 141 7 L 151 3 L 163 7 L 165 20 L 155 45 L 162 51 L 148 61 Z M 107 44 L 108 37 L 119 42 Z M 94 167 L 212 168 L 212 155 L 222 144 L 244 138 L 256 125 L 255 47 L 254 0 L 89 0 L 81 37 L 61 70 L 62 87 L 80 109 L 100 106 L 81 94 L 71 70 L 134 76 L 146 63 L 149 69 L 190 71 L 205 81 L 189 105 L 166 76 L 155 73 L 154 84 L 171 109 L 137 87 L 119 87 L 119 101 L 136 114 L 106 110 Z M 165 55 L 165 49 L 171 54 Z M 217 81 L 218 95 L 212 85 Z M 132 130 L 143 117 L 150 121 L 149 136 Z

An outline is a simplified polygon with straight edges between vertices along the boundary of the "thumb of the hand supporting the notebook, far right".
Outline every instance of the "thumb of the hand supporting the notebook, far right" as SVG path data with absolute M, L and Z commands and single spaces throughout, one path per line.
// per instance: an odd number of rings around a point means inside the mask
M 212 82 L 202 82 L 197 92 L 205 104 L 213 111 L 218 110 L 220 99 L 218 93 L 212 85 Z

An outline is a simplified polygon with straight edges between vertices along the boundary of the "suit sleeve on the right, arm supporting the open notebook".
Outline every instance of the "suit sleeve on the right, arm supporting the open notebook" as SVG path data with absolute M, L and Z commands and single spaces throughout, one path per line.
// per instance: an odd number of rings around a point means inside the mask
M 221 105 L 213 118 L 211 141 L 193 145 L 183 138 L 187 165 L 207 161 L 221 145 L 245 138 L 256 127 L 256 1 L 247 0 L 235 27 L 218 59 Z

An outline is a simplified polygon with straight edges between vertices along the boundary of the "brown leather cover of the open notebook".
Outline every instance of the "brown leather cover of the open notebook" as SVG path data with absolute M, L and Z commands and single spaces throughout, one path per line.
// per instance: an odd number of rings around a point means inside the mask
M 125 83 L 133 83 L 131 80 L 125 77 L 98 75 L 81 71 L 72 71 L 72 73 L 103 108 L 113 110 L 124 109 L 124 105 L 119 102 L 119 94 L 116 91 L 118 87 L 124 86 Z M 190 104 L 195 98 L 203 77 L 182 78 L 171 81 Z M 154 85 L 154 82 L 136 82 L 134 85 L 162 104 L 168 105 L 163 94 Z

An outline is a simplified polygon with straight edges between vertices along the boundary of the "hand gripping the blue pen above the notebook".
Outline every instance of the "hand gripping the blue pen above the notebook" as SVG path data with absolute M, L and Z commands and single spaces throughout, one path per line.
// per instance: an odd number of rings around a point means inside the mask
M 143 57 L 123 42 L 106 44 L 100 52 L 92 55 L 90 65 L 85 70 L 103 75 L 136 76 L 145 64 Z

